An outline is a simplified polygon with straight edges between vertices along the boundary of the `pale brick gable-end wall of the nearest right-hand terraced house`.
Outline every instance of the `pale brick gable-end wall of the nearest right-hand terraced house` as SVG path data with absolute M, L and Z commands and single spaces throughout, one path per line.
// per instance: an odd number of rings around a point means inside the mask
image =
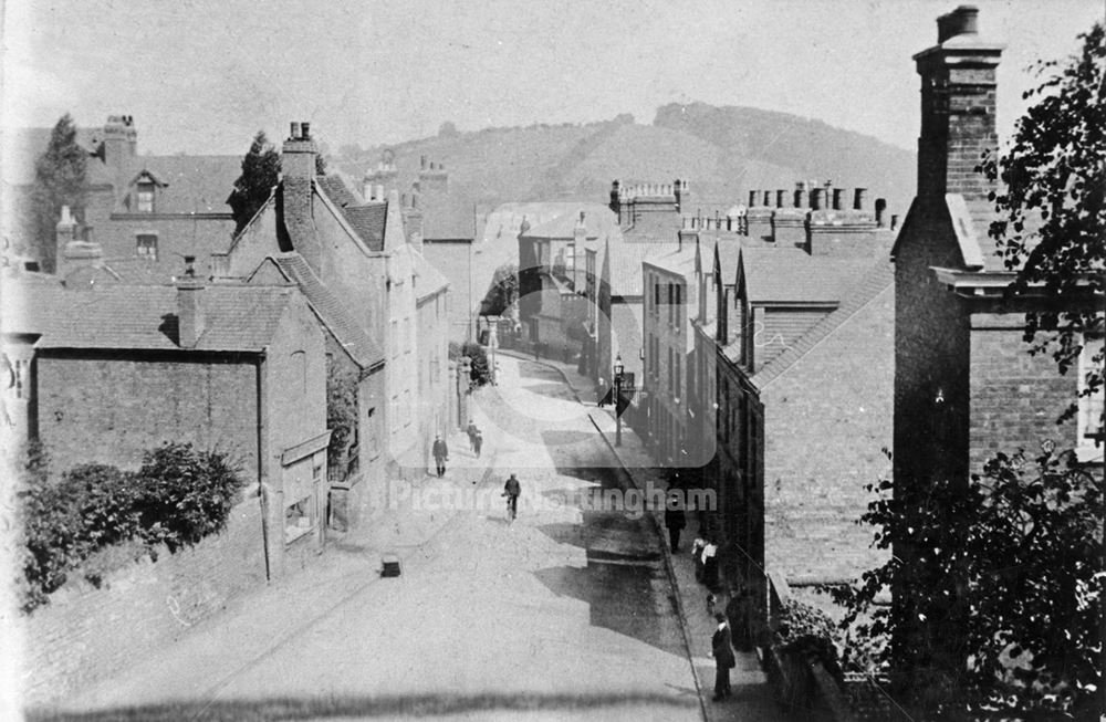
M 883 561 L 854 522 L 887 479 L 895 294 L 888 286 L 761 391 L 764 548 L 787 578 L 842 579 Z

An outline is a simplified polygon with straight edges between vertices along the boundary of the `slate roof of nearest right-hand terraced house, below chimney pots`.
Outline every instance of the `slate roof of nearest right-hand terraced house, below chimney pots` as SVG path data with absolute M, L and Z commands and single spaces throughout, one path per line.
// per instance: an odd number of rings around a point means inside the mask
M 808 255 L 797 248 L 747 248 L 740 263 L 750 303 L 825 303 L 839 301 L 872 259 Z

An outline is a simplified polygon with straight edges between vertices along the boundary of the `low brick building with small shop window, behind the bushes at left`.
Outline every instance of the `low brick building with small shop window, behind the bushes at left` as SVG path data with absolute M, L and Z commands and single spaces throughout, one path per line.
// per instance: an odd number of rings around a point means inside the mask
M 279 575 L 322 543 L 324 339 L 295 286 L 210 285 L 192 272 L 175 285 L 12 283 L 3 307 L 4 357 L 17 374 L 9 428 L 41 441 L 55 472 L 135 469 L 150 449 L 190 442 L 228 453 L 249 482 L 230 533 L 246 533 L 257 550 L 268 543 L 263 566 L 242 574 Z

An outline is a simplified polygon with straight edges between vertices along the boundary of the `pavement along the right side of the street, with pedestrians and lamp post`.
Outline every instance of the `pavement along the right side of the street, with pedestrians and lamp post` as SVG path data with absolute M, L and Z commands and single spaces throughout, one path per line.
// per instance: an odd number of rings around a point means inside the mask
M 624 423 L 622 428 L 622 446 L 614 444 L 615 410 L 609 406 L 604 408 L 596 406 L 594 383 L 588 377 L 578 374 L 574 364 L 545 358 L 535 362 L 532 356 L 510 350 L 503 352 L 502 349 L 500 349 L 500 356 L 528 358 L 531 363 L 540 363 L 555 369 L 573 390 L 577 401 L 587 409 L 589 420 L 603 436 L 611 453 L 625 469 L 634 485 L 638 489 L 647 489 L 649 484 L 653 484 L 654 488 L 665 488 L 667 480 L 661 470 L 658 469 L 657 461 L 628 425 Z M 730 670 L 733 697 L 723 702 L 711 701 L 714 687 L 714 663 L 711 659 L 710 639 L 717 622 L 707 609 L 708 589 L 695 578 L 695 564 L 690 553 L 691 542 L 695 538 L 693 522 L 691 519 L 688 520 L 688 527 L 684 530 L 680 540 L 680 548 L 676 554 L 672 554 L 668 544 L 665 543 L 667 532 L 664 526 L 662 508 L 653 506 L 650 511 L 654 514 L 657 533 L 662 540 L 660 546 L 665 550 L 671 582 L 676 589 L 678 614 L 688 640 L 696 684 L 702 700 L 703 719 L 710 722 L 786 720 L 787 716 L 774 700 L 772 688 L 768 683 L 755 652 L 735 652 L 737 667 Z M 724 609 L 727 598 L 721 594 L 718 597 L 717 607 Z

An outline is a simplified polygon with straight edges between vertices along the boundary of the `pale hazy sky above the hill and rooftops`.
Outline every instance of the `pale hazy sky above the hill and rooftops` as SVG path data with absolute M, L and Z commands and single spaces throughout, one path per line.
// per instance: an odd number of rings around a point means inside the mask
M 135 116 L 143 153 L 241 154 L 311 121 L 331 148 L 577 123 L 702 101 L 814 117 L 905 148 L 910 56 L 951 0 L 8 0 L 3 122 Z M 981 0 L 1006 43 L 999 128 L 1037 57 L 1077 49 L 1104 0 Z

